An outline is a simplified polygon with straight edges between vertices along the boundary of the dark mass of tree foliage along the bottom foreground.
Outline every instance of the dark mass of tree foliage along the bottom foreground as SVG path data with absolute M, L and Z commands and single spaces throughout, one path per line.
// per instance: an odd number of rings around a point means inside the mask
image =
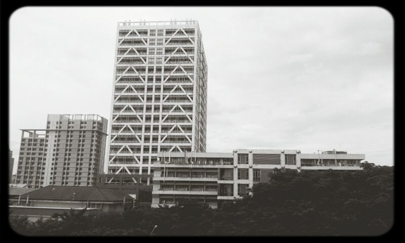
M 96 216 L 10 221 L 23 235 L 381 235 L 393 224 L 393 167 L 362 171 L 275 170 L 252 195 L 219 209 L 182 201 Z

